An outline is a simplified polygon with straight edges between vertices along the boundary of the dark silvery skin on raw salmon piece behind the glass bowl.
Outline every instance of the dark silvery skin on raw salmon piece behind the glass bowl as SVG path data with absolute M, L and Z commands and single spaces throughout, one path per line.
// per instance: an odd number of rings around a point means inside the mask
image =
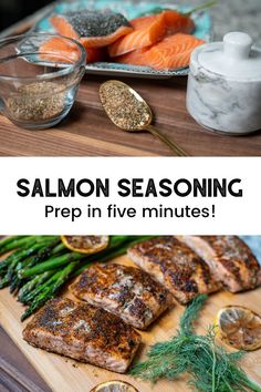
M 82 10 L 66 12 L 64 18 L 80 37 L 105 37 L 121 27 L 130 27 L 121 13 Z

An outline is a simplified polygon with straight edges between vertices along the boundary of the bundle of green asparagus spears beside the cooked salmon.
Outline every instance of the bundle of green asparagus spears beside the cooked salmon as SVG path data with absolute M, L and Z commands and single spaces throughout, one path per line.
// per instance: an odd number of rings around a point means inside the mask
M 111 236 L 106 249 L 85 255 L 67 249 L 59 236 L 14 236 L 0 240 L 0 289 L 10 287 L 28 308 L 23 321 L 53 298 L 71 278 L 94 261 L 105 262 L 124 255 L 127 248 L 147 236 Z

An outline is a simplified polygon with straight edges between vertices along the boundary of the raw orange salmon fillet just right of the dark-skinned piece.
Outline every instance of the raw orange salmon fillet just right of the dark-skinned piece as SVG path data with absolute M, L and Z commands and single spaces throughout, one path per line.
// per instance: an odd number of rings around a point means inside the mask
M 190 18 L 171 10 L 134 19 L 130 24 L 134 31 L 109 45 L 108 54 L 112 58 L 153 45 L 177 32 L 191 33 L 195 29 Z

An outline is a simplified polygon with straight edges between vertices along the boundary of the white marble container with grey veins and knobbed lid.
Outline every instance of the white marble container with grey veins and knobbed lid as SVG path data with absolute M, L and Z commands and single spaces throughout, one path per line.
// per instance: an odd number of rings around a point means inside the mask
M 197 123 L 230 135 L 261 130 L 261 50 L 241 32 L 191 55 L 187 109 Z

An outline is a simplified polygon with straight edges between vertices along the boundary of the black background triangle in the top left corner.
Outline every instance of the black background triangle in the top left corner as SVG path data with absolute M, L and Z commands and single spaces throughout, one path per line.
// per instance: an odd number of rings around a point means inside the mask
M 51 0 L 0 0 L 0 31 L 50 2 Z

